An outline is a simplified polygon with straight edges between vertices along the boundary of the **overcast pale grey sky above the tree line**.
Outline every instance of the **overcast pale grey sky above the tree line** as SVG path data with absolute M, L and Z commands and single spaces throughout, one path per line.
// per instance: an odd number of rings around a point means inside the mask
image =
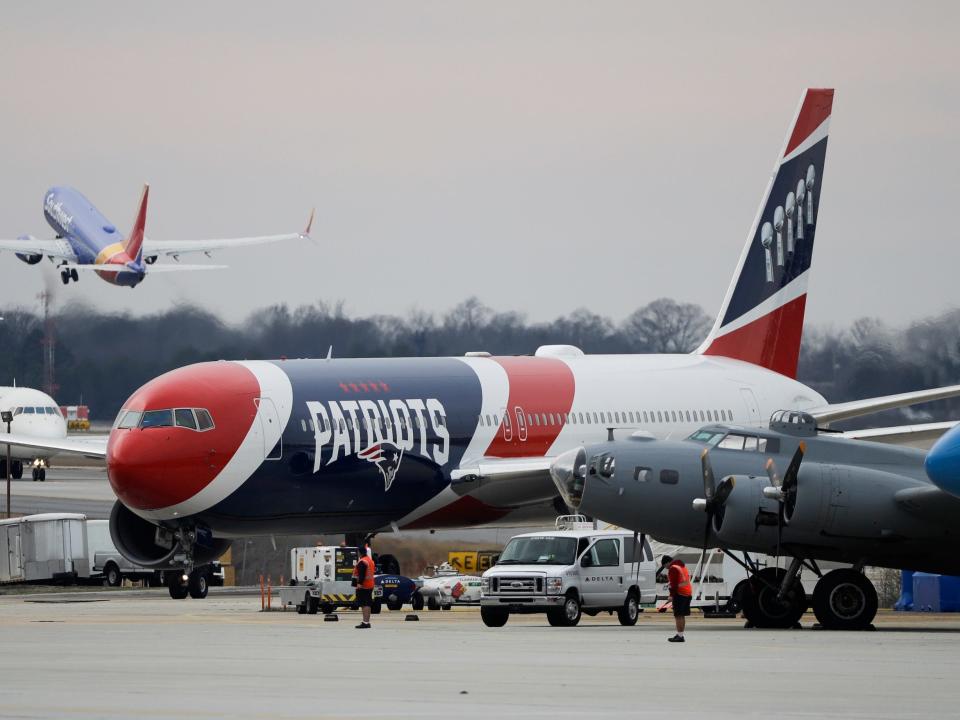
M 17 3 L 0 26 L 0 236 L 78 187 L 122 230 L 299 230 L 115 288 L 0 256 L 0 305 L 469 295 L 542 320 L 660 296 L 714 314 L 801 90 L 837 88 L 808 321 L 960 304 L 960 5 Z M 200 261 L 206 261 L 202 258 Z M 213 261 L 206 261 L 213 262 Z

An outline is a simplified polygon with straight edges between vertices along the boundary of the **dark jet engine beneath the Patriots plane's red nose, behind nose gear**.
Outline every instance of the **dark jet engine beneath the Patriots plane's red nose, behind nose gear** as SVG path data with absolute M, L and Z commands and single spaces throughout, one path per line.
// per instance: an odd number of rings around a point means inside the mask
M 177 558 L 186 554 L 178 535 L 160 525 L 144 520 L 119 501 L 110 511 L 110 537 L 117 550 L 127 560 L 149 568 L 177 568 L 183 563 Z M 209 542 L 193 544 L 195 565 L 212 562 L 230 547 L 230 541 L 211 538 Z

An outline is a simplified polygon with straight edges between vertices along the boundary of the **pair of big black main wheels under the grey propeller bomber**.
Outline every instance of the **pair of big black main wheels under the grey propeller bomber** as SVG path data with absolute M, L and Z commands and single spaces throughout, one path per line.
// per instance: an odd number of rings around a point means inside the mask
M 725 551 L 726 552 L 726 551 Z M 733 591 L 748 627 L 796 628 L 808 609 L 807 594 L 800 571 L 807 567 L 819 576 L 813 590 L 813 612 L 827 630 L 866 630 L 877 614 L 877 591 L 858 569 L 841 568 L 823 574 L 814 561 L 794 558 L 790 567 L 758 568 L 744 554 L 746 562 L 727 553 L 749 573 Z

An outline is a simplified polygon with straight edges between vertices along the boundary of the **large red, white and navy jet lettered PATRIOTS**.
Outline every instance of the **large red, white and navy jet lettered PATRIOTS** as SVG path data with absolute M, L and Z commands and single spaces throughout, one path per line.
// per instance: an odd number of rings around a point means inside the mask
M 960 395 L 842 404 L 799 383 L 833 91 L 807 90 L 722 309 L 691 354 L 220 361 L 133 393 L 105 447 L 110 527 L 130 560 L 190 568 L 249 535 L 530 523 L 565 511 L 561 453 L 615 433 L 685 437 L 803 410 L 821 425 Z M 891 429 L 915 437 L 942 428 Z M 882 431 L 874 431 L 874 439 Z M 11 437 L 8 442 L 28 443 Z M 35 442 L 35 441 L 33 441 Z M 89 446 L 56 445 L 90 455 Z M 191 593 L 193 594 L 193 593 Z

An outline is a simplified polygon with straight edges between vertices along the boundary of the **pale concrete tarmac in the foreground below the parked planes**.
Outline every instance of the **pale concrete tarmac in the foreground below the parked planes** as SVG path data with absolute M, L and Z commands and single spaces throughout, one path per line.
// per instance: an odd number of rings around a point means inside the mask
M 261 612 L 255 595 L 0 596 L 5 718 L 852 717 L 956 714 L 960 618 L 882 613 L 875 632 L 745 630 L 645 613 L 549 627 L 476 608 Z M 0 592 L 3 589 L 0 588 Z M 219 592 L 218 592 L 219 591 Z M 809 628 L 812 617 L 804 619 Z

